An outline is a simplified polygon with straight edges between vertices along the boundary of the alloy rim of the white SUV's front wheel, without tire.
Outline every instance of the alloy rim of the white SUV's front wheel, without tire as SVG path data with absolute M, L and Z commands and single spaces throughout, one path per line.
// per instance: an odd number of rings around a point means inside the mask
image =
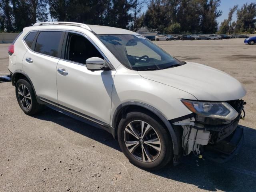
M 156 160 L 161 151 L 161 141 L 156 130 L 141 120 L 128 123 L 124 130 L 124 142 L 128 151 L 142 162 Z

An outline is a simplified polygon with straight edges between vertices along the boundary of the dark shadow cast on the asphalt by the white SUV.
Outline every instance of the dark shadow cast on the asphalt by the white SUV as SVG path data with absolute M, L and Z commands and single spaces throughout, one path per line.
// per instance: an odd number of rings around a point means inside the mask
M 41 120 L 51 121 L 68 128 L 85 137 L 96 140 L 115 150 L 121 151 L 118 141 L 105 130 L 80 122 L 64 114 L 47 108 L 34 116 Z M 86 128 L 85 128 L 86 127 Z M 183 182 L 210 191 L 256 191 L 256 130 L 244 127 L 244 143 L 238 154 L 223 164 L 198 159 L 189 155 L 183 158 L 178 166 L 167 165 L 152 174 L 166 179 Z M 171 188 L 172 186 L 168 186 Z

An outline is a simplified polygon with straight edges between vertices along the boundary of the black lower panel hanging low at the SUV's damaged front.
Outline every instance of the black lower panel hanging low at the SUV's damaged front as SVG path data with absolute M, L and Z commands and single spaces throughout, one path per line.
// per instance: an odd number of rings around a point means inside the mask
M 238 126 L 236 130 L 217 144 L 205 146 L 204 157 L 218 163 L 224 163 L 233 158 L 242 146 L 244 128 Z

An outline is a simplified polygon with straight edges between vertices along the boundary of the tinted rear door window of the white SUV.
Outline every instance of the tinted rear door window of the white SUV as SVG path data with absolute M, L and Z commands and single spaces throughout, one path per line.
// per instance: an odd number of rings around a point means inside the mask
M 36 40 L 35 51 L 53 57 L 60 57 L 62 35 L 64 32 L 43 31 Z

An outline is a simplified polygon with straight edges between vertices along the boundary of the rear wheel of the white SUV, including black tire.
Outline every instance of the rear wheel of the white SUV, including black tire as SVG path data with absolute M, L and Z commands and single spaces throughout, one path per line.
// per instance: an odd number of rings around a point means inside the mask
M 43 106 L 37 102 L 34 90 L 27 80 L 19 79 L 17 81 L 15 93 L 18 104 L 25 114 L 34 115 L 42 110 Z

